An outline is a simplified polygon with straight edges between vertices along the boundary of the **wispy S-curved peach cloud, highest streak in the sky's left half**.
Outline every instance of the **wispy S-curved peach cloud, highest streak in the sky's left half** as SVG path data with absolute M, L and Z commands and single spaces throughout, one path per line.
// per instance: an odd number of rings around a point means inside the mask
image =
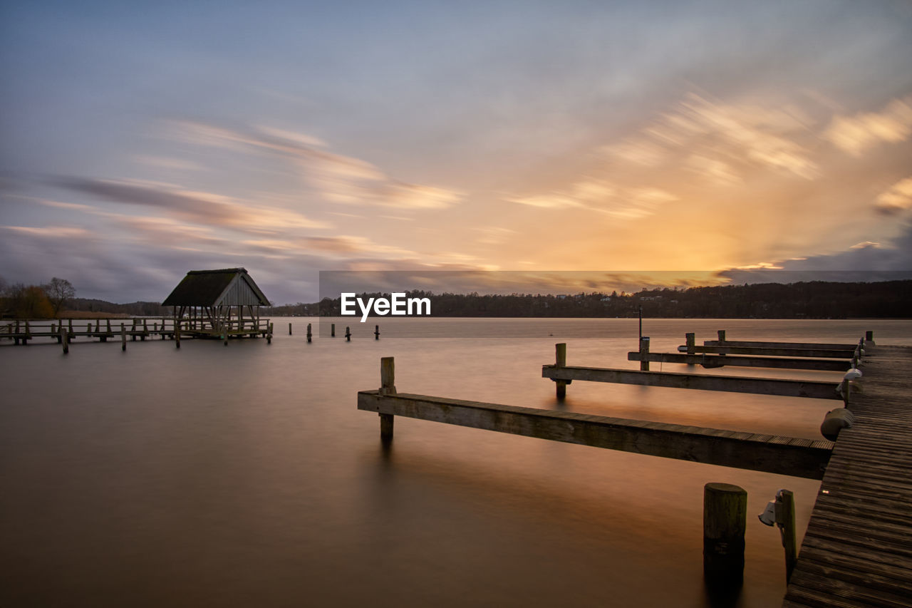
M 455 190 L 389 177 L 358 158 L 316 150 L 326 143 L 302 133 L 270 127 L 234 130 L 193 121 L 174 121 L 173 125 L 185 141 L 275 154 L 298 167 L 305 182 L 333 203 L 443 209 L 464 197 Z

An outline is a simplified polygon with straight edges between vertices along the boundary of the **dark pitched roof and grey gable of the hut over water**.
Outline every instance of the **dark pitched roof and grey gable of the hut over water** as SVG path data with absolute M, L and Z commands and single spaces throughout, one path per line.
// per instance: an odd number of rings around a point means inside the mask
M 162 306 L 269 306 L 245 268 L 191 270 Z

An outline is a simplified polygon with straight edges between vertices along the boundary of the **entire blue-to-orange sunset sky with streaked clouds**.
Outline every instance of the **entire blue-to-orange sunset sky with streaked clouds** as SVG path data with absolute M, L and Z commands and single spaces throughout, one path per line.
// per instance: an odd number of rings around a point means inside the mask
M 912 270 L 906 0 L 6 2 L 0 96 L 6 283 Z

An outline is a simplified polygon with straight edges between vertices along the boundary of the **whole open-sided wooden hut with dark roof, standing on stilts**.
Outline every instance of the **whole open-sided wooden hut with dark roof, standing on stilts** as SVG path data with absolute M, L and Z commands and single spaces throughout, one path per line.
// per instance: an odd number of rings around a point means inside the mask
M 269 300 L 245 268 L 221 268 L 191 270 L 161 304 L 188 330 L 225 335 L 245 324 L 258 328 L 260 307 Z

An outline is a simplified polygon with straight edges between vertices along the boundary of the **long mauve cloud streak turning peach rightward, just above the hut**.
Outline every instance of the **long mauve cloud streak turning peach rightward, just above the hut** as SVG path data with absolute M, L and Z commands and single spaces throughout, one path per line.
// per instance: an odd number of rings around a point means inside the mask
M 168 183 L 82 177 L 60 177 L 53 183 L 74 192 L 92 194 L 116 203 L 155 207 L 202 225 L 222 225 L 248 230 L 270 227 L 328 227 L 323 222 L 308 219 L 295 211 L 244 204 L 221 194 L 186 190 Z

